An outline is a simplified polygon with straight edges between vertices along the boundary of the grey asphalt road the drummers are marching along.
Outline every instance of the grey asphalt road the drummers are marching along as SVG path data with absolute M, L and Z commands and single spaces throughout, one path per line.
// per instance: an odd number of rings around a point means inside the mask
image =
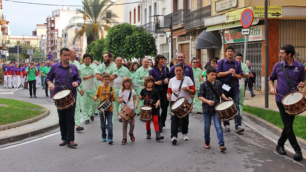
M 1 88 L 2 89 L 2 88 Z M 16 90 L 9 95 L 25 99 L 28 90 Z M 8 97 L 0 94 L 1 97 Z M 54 105 L 38 90 L 37 99 L 29 102 Z M 84 126 L 84 131 L 75 133 L 76 148 L 58 146 L 61 141 L 59 129 L 39 139 L 0 148 L 0 171 L 305 171 L 306 160 L 293 160 L 293 150 L 286 146 L 287 156 L 275 151 L 273 133 L 254 122 L 244 119 L 245 132 L 224 132 L 227 150 L 220 152 L 215 128 L 211 126 L 211 149 L 204 149 L 203 116 L 192 113 L 189 117 L 188 141 L 178 136 L 178 144 L 171 144 L 170 116 L 161 133 L 164 140 L 155 141 L 155 134 L 147 140 L 145 123 L 136 117 L 135 142 L 128 138 L 121 145 L 122 123 L 113 125 L 114 144 L 101 142 L 99 117 Z M 151 124 L 153 130 L 153 124 Z M 128 136 L 129 137 L 129 136 Z M 303 150 L 305 152 L 305 150 Z

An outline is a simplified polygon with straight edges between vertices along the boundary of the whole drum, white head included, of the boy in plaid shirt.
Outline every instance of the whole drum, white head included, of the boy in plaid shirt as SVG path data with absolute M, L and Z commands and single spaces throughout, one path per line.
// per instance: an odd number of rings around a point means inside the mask
M 216 107 L 215 110 L 218 114 L 218 117 L 220 120 L 223 121 L 230 121 L 237 117 L 238 111 L 236 109 L 234 101 L 224 101 L 219 103 Z

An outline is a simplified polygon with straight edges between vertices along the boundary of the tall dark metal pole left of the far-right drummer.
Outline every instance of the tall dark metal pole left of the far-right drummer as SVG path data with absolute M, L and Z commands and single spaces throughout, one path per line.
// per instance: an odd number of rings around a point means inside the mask
M 268 55 L 268 0 L 265 0 L 265 108 L 269 108 Z

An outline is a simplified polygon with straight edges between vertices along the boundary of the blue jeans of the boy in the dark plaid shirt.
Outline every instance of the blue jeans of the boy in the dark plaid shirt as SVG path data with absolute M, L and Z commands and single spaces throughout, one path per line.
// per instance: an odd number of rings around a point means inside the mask
M 203 113 L 204 117 L 204 140 L 210 141 L 210 126 L 211 126 L 211 117 L 214 118 L 214 125 L 217 131 L 217 137 L 219 140 L 219 145 L 224 144 L 223 141 L 223 131 L 221 127 L 221 121 L 216 112 Z

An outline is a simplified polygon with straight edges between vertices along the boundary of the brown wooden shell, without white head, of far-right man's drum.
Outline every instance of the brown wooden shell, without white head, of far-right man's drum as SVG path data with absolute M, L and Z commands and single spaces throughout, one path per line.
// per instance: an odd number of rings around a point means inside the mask
M 298 93 L 303 94 L 302 92 L 298 92 Z M 292 116 L 303 113 L 306 110 L 306 99 L 305 99 L 304 94 L 303 94 L 302 98 L 297 103 L 292 103 L 290 105 L 285 105 L 284 104 L 285 97 L 287 97 L 288 95 L 291 95 L 291 94 L 292 94 L 292 92 L 285 95 L 282 99 L 282 104 L 285 107 L 286 113 L 289 114 L 289 115 L 292 115 Z

